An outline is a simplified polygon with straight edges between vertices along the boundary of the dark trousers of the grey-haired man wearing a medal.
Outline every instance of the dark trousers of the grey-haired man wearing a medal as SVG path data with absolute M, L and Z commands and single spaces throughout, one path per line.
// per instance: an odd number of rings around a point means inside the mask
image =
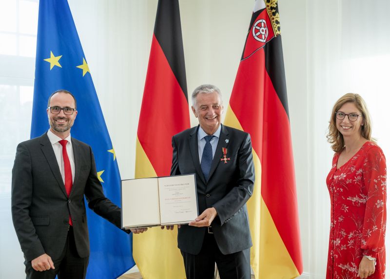
M 215 263 L 221 279 L 251 278 L 250 249 L 223 255 L 212 233 L 206 232 L 198 255 L 183 251 L 181 255 L 187 279 L 214 279 Z

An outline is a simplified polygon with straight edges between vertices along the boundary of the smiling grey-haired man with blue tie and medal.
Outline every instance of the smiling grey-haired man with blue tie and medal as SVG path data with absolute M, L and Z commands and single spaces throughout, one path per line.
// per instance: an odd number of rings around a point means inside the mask
M 192 94 L 199 125 L 172 138 L 171 175 L 196 174 L 199 212 L 178 229 L 187 279 L 249 279 L 250 247 L 246 202 L 254 188 L 249 134 L 221 124 L 220 90 L 201 85 Z

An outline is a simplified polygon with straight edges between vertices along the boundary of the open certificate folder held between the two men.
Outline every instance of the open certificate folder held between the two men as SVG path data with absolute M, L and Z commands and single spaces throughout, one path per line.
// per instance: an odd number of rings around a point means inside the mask
M 195 174 L 122 180 L 122 227 L 188 224 L 199 215 Z

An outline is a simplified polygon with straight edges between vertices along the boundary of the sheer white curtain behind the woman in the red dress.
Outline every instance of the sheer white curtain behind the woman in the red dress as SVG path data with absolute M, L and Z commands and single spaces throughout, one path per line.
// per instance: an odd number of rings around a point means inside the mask
M 386 0 L 306 1 L 307 99 L 303 107 L 308 153 L 307 160 L 297 161 L 296 167 L 307 173 L 307 185 L 298 185 L 298 195 L 306 204 L 300 207 L 300 216 L 305 272 L 310 278 L 324 278 L 326 269 L 330 199 L 325 178 L 333 153 L 325 136 L 332 106 L 339 97 L 353 92 L 365 99 L 373 122 L 372 135 L 390 158 L 389 8 Z M 299 65 L 295 69 L 299 71 Z M 389 232 L 386 244 L 390 246 Z M 390 278 L 389 272 L 386 278 Z

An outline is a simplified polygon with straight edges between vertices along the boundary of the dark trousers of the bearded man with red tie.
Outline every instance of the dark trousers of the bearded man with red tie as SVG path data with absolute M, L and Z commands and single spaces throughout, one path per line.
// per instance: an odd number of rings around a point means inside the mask
M 50 255 L 49 255 L 50 256 Z M 24 262 L 26 265 L 26 279 L 85 279 L 89 257 L 80 258 L 76 250 L 73 227 L 69 228 L 68 238 L 64 250 L 59 259 L 52 259 L 55 269 L 36 271 L 31 262 Z

